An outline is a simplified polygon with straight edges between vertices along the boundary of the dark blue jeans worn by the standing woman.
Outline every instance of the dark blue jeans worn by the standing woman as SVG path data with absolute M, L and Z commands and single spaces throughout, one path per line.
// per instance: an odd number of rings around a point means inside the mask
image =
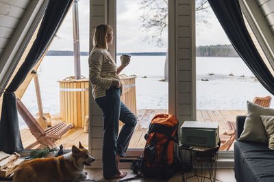
M 121 102 L 121 89 L 110 87 L 105 97 L 95 99 L 103 113 L 103 176 L 112 177 L 117 173 L 116 154 L 125 157 L 129 141 L 132 138 L 137 119 Z M 123 125 L 119 132 L 119 120 Z

